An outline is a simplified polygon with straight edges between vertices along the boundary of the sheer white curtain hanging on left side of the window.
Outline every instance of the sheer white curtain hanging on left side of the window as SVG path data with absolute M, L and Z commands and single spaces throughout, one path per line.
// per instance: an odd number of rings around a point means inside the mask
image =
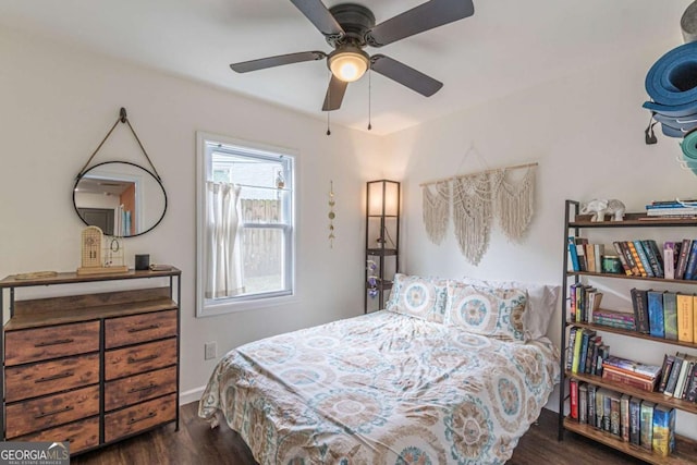
M 206 298 L 244 291 L 237 246 L 240 186 L 206 183 Z

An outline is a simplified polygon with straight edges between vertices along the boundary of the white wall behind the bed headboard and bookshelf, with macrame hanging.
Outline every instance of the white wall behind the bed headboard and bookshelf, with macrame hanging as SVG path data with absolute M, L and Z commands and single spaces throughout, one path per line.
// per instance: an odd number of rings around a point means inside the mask
M 389 136 L 394 176 L 402 179 L 405 187 L 402 271 L 559 285 L 566 234 L 565 199 L 619 198 L 628 211 L 641 211 L 655 199 L 694 196 L 697 178 L 674 160 L 681 155 L 677 142 L 659 134 L 658 145 L 644 143 L 649 119 L 649 113 L 641 109 L 647 99 L 644 77 L 663 52 L 680 45 L 678 40 L 656 45 L 644 53 L 627 53 L 622 61 L 584 70 Z M 419 183 L 533 161 L 539 163 L 535 216 L 522 243 L 508 242 L 494 225 L 488 252 L 479 266 L 472 266 L 460 254 L 452 223 L 441 246 L 426 237 Z M 646 238 L 655 233 L 626 232 L 646 234 Z M 673 231 L 674 237 L 684 234 L 695 237 L 694 231 Z M 638 286 L 645 284 L 634 282 Z M 561 309 L 549 330 L 557 344 L 560 325 Z M 611 353 L 645 363 L 660 364 L 664 353 L 676 350 L 611 335 L 606 339 L 611 343 Z M 682 352 L 697 354 L 694 350 Z M 548 405 L 555 411 L 557 399 L 553 396 Z M 678 430 L 695 437 L 697 416 L 686 419 L 678 416 Z

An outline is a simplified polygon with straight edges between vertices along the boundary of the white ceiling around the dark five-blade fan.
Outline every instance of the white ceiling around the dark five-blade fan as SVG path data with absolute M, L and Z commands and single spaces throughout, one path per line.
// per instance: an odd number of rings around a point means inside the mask
M 345 2 L 325 0 L 328 8 Z M 423 0 L 357 0 L 377 23 Z M 682 44 L 692 0 L 474 0 L 475 14 L 380 49 L 441 82 L 426 98 L 371 75 L 372 132 L 388 134 L 640 50 Z M 331 49 L 289 0 L 0 0 L 0 27 L 24 30 L 326 118 L 323 61 L 247 74 L 229 64 Z M 668 50 L 667 50 L 668 51 Z M 658 57 L 657 57 L 658 58 Z M 652 63 L 647 63 L 648 68 Z M 366 130 L 368 78 L 332 124 Z

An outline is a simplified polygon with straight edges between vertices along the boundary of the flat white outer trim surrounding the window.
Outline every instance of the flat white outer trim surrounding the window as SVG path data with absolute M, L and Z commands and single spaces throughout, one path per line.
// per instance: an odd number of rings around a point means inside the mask
M 291 254 L 291 265 L 289 267 L 289 280 L 291 283 L 291 292 L 283 293 L 282 295 L 274 295 L 271 293 L 265 297 L 250 297 L 240 298 L 234 302 L 225 301 L 220 303 L 206 304 L 204 296 L 204 201 L 206 198 L 206 144 L 208 142 L 216 142 L 224 145 L 240 146 L 253 150 L 268 151 L 272 154 L 283 154 L 295 159 L 293 163 L 293 206 L 291 207 L 291 221 L 293 224 L 293 231 L 291 233 L 291 244 L 293 245 Z M 260 308 L 279 307 L 290 305 L 298 302 L 297 298 L 297 279 L 295 277 L 296 271 L 296 255 L 297 255 L 297 186 L 299 185 L 299 170 L 297 163 L 297 150 L 290 149 L 288 147 L 279 147 L 266 144 L 253 143 L 249 140 L 242 140 L 232 137 L 228 137 L 220 134 L 212 134 L 207 132 L 196 132 L 196 317 L 211 317 L 218 315 L 225 315 L 236 311 L 247 311 Z

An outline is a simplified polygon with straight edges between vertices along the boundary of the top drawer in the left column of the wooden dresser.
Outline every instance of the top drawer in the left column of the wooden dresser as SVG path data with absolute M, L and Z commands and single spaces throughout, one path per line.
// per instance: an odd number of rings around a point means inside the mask
M 7 366 L 99 351 L 99 321 L 5 332 Z

